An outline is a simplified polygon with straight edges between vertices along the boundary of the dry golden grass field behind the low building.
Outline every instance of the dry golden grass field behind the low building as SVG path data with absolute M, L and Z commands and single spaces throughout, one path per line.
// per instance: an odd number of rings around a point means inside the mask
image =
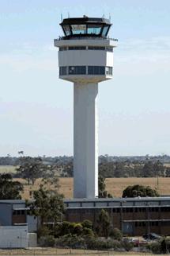
M 17 179 L 25 184 L 25 192 L 23 197 L 28 199 L 30 190 L 36 190 L 40 186 L 40 179 L 36 180 L 36 184 L 28 186 L 25 180 Z M 69 199 L 73 197 L 73 178 L 59 178 L 59 192 L 64 194 L 65 198 Z M 129 185 L 142 184 L 150 186 L 151 188 L 157 188 L 157 178 L 108 178 L 106 179 L 106 189 L 111 195 L 121 197 L 124 188 Z M 158 192 L 161 195 L 170 195 L 170 177 L 158 178 Z

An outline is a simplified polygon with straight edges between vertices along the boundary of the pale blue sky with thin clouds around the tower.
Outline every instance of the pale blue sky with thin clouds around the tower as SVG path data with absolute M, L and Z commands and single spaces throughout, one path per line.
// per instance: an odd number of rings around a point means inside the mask
M 73 155 L 62 17 L 111 16 L 114 76 L 99 85 L 99 154 L 170 154 L 170 1 L 0 0 L 0 156 Z

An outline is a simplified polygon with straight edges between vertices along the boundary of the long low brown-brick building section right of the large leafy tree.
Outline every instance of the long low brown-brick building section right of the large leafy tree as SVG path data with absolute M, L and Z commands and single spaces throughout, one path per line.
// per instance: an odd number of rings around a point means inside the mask
M 113 227 L 123 235 L 154 232 L 170 235 L 170 197 L 111 198 L 65 200 L 66 219 L 81 222 L 89 219 L 96 225 L 101 209 L 108 211 Z

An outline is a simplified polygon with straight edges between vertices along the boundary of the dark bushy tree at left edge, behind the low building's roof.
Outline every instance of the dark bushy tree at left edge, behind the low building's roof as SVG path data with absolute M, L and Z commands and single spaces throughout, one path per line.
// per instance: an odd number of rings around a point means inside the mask
M 0 200 L 20 200 L 23 185 L 9 173 L 0 174 Z

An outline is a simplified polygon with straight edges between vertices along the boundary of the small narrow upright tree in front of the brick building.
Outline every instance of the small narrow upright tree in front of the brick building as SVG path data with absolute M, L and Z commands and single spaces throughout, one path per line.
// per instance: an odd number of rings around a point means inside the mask
M 108 239 L 109 229 L 111 227 L 111 220 L 108 215 L 108 211 L 101 210 L 100 215 L 97 219 L 98 230 L 100 235 L 104 235 Z

